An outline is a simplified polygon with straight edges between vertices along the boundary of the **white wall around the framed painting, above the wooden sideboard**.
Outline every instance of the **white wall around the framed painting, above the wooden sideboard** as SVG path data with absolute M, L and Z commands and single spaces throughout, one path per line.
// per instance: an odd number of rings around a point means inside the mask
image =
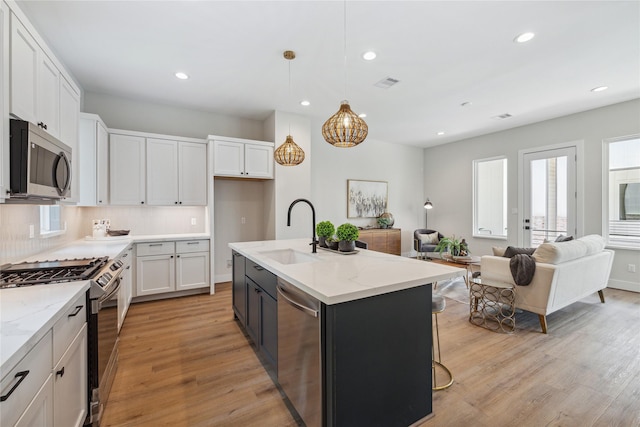
M 336 148 L 323 139 L 323 123 L 312 122 L 311 136 L 311 188 L 317 220 L 329 220 L 336 227 L 344 222 L 377 226 L 375 218 L 347 218 L 347 180 L 387 181 L 388 211 L 395 219 L 393 227 L 402 229 L 402 253 L 409 255 L 413 231 L 423 228 L 425 221 L 423 149 L 378 141 L 373 129 L 360 145 Z

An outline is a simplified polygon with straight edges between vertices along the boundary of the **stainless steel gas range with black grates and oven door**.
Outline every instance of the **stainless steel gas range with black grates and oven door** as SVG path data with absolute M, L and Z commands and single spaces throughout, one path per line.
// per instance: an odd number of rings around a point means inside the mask
M 0 289 L 90 280 L 87 291 L 88 402 L 85 425 L 100 425 L 118 365 L 118 291 L 124 263 L 109 257 L 36 261 L 0 267 Z

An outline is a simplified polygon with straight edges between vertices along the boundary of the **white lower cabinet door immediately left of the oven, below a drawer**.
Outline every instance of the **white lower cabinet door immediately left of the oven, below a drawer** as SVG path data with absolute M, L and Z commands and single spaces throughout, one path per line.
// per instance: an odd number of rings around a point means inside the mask
M 85 324 L 53 369 L 55 426 L 83 425 L 87 415 L 87 369 L 87 325 Z

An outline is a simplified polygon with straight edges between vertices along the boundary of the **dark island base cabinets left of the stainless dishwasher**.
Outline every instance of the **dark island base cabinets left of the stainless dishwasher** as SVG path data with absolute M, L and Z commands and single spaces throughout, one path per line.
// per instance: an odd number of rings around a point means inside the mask
M 278 278 L 234 253 L 233 306 L 242 326 L 274 372 L 278 369 Z M 244 265 L 244 269 L 240 266 Z M 238 266 L 236 268 L 236 266 Z M 244 270 L 244 276 L 238 276 Z M 242 310 L 245 316 L 242 316 Z

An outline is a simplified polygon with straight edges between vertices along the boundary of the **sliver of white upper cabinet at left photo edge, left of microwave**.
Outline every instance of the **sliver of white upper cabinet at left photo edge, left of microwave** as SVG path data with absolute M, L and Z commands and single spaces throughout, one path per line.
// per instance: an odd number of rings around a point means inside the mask
M 0 2 L 0 203 L 9 189 L 9 15 Z

